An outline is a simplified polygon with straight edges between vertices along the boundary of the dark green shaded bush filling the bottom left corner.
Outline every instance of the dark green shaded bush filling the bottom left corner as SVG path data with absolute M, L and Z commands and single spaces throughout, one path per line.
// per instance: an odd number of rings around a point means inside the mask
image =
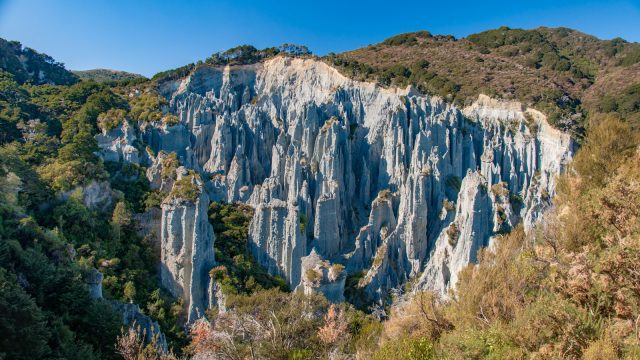
M 90 298 L 63 232 L 25 214 L 19 184 L 27 179 L 12 170 L 5 163 L 0 176 L 0 351 L 24 359 L 113 358 L 119 317 Z

